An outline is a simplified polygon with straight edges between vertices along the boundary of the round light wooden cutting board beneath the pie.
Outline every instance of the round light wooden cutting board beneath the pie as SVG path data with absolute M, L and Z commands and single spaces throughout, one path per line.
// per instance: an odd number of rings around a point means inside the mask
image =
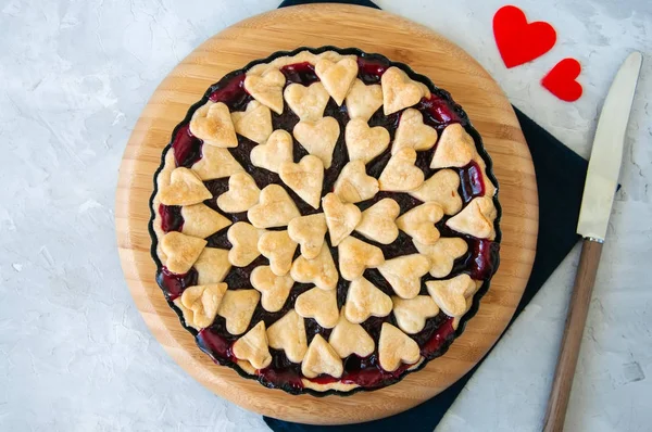
M 275 51 L 326 45 L 381 53 L 450 91 L 493 160 L 503 211 L 500 269 L 463 335 L 444 356 L 398 384 L 347 397 L 292 396 L 213 364 L 181 327 L 156 285 L 148 231 L 149 200 L 161 151 L 206 88 L 228 72 Z M 253 411 L 297 422 L 341 424 L 379 419 L 418 405 L 460 379 L 487 353 L 512 318 L 528 280 L 538 213 L 535 168 L 514 111 L 475 60 L 438 34 L 390 13 L 312 4 L 275 10 L 225 29 L 161 82 L 125 150 L 115 224 L 122 266 L 136 305 L 154 336 L 188 373 L 220 396 Z

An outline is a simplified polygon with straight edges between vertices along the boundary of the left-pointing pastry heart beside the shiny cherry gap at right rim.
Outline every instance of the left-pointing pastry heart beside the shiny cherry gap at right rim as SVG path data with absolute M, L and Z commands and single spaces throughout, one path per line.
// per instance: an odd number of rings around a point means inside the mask
M 460 176 L 451 169 L 435 173 L 417 189 L 409 193 L 423 202 L 434 201 L 447 215 L 454 215 L 462 208 L 462 198 L 457 193 Z

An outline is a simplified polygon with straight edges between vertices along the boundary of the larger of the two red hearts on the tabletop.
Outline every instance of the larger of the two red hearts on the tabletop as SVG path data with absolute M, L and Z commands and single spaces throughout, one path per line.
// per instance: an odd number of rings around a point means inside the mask
M 516 7 L 502 7 L 493 15 L 493 36 L 507 67 L 518 66 L 546 54 L 556 41 L 556 33 L 548 23 L 527 23 Z

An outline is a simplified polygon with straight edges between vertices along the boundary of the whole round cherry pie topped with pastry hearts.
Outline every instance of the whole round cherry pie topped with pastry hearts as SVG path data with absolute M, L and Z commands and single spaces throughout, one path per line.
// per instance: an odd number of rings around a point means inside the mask
M 159 285 L 202 351 L 263 385 L 392 384 L 448 350 L 489 287 L 490 168 L 461 106 L 408 66 L 276 53 L 212 86 L 163 152 Z

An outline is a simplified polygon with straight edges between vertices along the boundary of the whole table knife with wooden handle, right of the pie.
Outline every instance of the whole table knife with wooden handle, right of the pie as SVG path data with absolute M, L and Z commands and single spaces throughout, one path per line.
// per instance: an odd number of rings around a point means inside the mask
M 579 345 L 618 185 L 625 131 L 641 63 L 640 52 L 627 56 L 614 78 L 598 120 L 577 224 L 577 232 L 584 237 L 584 243 L 548 403 L 544 432 L 562 431 L 564 428 Z

